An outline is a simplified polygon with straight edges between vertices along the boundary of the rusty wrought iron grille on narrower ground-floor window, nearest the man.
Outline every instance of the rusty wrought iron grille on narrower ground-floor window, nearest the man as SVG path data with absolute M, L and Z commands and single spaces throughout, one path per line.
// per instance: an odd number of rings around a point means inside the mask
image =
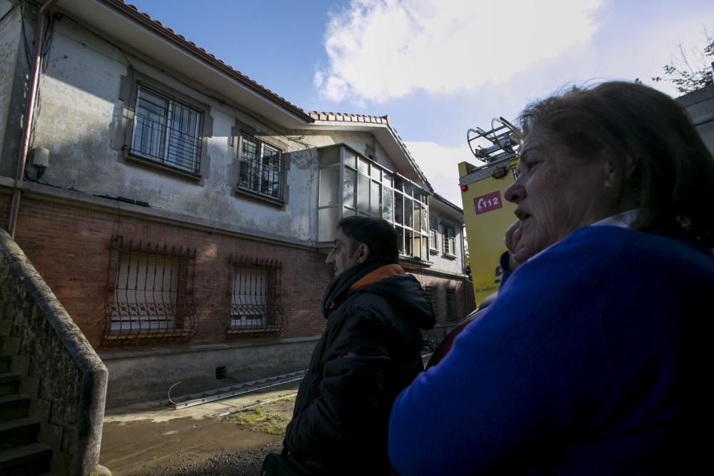
M 231 255 L 229 334 L 274 335 L 283 331 L 286 316 L 280 302 L 281 263 Z

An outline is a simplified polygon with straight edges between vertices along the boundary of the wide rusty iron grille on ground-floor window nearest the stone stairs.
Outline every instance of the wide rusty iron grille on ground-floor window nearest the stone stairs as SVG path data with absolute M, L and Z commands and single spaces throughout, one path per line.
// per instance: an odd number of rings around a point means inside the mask
M 104 345 L 189 340 L 198 331 L 193 305 L 195 248 L 111 241 Z

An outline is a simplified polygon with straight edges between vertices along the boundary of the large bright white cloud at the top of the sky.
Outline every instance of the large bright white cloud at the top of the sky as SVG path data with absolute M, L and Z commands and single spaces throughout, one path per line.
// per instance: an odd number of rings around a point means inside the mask
M 383 102 L 501 83 L 585 44 L 606 0 L 351 0 L 331 14 L 324 98 Z

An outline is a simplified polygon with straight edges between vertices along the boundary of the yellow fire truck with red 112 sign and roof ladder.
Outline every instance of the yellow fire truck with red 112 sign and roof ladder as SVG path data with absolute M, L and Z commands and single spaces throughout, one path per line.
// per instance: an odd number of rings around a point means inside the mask
M 483 298 L 495 293 L 501 283 L 498 258 L 506 250 L 503 236 L 516 220 L 516 206 L 503 195 L 516 179 L 521 131 L 502 117 L 494 118 L 490 131 L 469 129 L 466 141 L 481 161 L 479 166 L 458 164 L 473 292 L 480 306 Z

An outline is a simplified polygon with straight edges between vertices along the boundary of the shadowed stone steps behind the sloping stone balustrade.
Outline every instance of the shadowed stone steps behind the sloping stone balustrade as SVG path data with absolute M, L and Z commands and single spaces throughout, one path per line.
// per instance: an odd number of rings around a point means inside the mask
M 0 351 L 6 337 L 0 336 Z M 38 440 L 41 421 L 30 417 L 31 398 L 20 393 L 23 375 L 14 372 L 13 356 L 0 353 L 0 475 L 51 475 L 52 448 Z

